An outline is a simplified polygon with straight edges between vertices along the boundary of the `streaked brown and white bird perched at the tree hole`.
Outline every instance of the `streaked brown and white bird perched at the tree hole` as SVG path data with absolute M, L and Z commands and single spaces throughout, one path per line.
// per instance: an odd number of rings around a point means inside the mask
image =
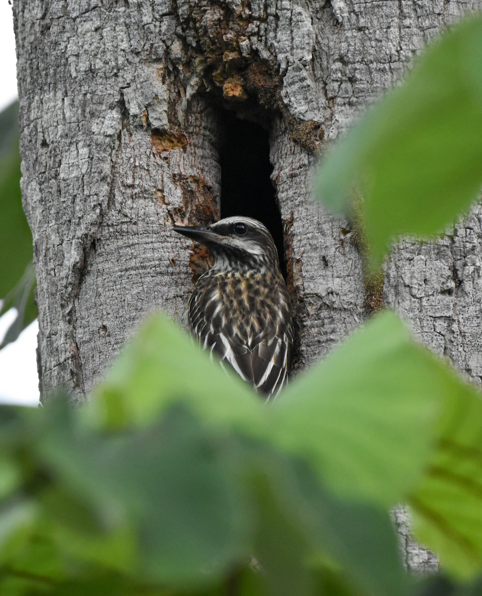
M 242 216 L 173 229 L 204 244 L 213 256 L 213 266 L 197 279 L 189 299 L 191 334 L 257 393 L 274 399 L 291 368 L 293 317 L 271 234 L 261 222 Z

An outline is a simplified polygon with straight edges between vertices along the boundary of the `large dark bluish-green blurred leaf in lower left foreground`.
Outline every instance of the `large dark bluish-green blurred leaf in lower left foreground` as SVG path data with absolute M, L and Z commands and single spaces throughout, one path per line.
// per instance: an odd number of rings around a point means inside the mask
M 102 512 L 105 532 L 132 530 L 130 566 L 139 579 L 213 583 L 248 555 L 253 520 L 237 440 L 204 427 L 182 406 L 148 429 L 108 436 L 73 426 L 55 409 L 50 418 L 38 446 L 49 475 Z

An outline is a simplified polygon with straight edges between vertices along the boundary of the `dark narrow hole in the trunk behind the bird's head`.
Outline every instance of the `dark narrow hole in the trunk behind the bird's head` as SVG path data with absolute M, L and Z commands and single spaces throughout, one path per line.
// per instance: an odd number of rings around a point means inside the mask
M 283 226 L 270 179 L 273 166 L 269 160 L 269 130 L 223 108 L 219 108 L 219 123 L 221 218 L 244 215 L 262 222 L 275 241 L 286 279 Z

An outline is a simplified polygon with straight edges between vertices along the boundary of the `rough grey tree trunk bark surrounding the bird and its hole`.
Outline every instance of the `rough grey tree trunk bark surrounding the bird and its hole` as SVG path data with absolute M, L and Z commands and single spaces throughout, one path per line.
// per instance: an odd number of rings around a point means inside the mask
M 316 153 L 425 42 L 481 5 L 15 0 L 42 395 L 67 386 L 82 400 L 148 311 L 182 322 L 206 255 L 189 257 L 170 228 L 219 215 L 219 105 L 269 123 L 297 367 L 349 334 L 380 296 L 367 296 L 350 225 L 313 203 Z M 402 243 L 384 287 L 422 339 L 476 380 L 480 218 L 474 210 L 438 243 Z M 433 568 L 419 552 L 409 567 Z

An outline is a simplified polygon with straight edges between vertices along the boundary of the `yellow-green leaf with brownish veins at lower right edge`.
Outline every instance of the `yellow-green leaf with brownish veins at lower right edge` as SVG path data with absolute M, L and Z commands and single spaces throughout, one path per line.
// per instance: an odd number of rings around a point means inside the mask
M 482 572 L 482 400 L 459 382 L 441 418 L 437 451 L 412 492 L 417 538 L 456 578 Z

